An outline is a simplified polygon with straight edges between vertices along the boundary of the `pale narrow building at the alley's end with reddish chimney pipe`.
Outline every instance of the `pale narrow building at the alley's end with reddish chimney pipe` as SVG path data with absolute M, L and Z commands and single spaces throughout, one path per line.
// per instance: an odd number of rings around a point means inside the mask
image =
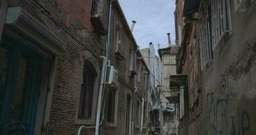
M 170 76 L 176 75 L 176 55 L 180 46 L 173 44 L 168 33 L 168 47 L 158 49 L 162 63 L 161 108 L 163 112 L 162 134 L 177 134 L 179 94 L 176 88 L 170 87 Z

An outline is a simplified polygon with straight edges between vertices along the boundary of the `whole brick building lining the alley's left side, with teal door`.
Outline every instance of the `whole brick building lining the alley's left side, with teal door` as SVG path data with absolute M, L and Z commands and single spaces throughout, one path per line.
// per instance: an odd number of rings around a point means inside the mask
M 150 71 L 118 1 L 0 5 L 0 134 L 147 134 Z

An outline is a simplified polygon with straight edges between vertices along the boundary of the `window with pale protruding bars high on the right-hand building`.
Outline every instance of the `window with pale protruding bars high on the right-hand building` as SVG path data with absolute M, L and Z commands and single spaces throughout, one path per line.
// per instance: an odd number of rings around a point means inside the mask
M 201 12 L 200 25 L 201 66 L 211 65 L 213 50 L 217 45 L 226 43 L 231 35 L 230 1 L 211 0 Z

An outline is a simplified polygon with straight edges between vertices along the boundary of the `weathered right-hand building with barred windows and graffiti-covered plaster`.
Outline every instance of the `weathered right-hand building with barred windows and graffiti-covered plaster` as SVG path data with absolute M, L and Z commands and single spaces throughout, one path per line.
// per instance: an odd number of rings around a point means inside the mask
M 176 3 L 177 71 L 188 81 L 180 134 L 255 134 L 255 1 Z

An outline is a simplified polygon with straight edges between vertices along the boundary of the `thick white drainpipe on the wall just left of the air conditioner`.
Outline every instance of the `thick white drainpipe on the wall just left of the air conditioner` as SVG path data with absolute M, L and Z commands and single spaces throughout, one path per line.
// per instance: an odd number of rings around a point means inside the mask
M 105 73 L 107 68 L 107 58 L 104 56 L 101 56 L 103 59 L 103 65 L 102 65 L 102 71 L 101 71 L 101 84 L 99 86 L 99 97 L 98 97 L 98 104 L 97 104 L 97 115 L 96 115 L 96 125 L 95 125 L 95 135 L 99 134 L 99 126 L 100 126 L 100 120 L 101 120 L 101 102 L 103 97 L 103 88 L 104 88 L 104 82 L 105 82 Z

